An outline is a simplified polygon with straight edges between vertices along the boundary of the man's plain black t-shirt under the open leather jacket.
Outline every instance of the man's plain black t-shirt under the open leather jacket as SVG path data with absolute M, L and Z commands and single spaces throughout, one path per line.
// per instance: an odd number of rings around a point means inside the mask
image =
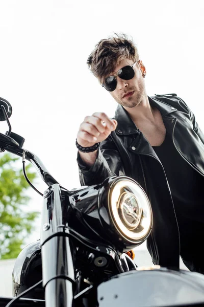
M 168 133 L 162 145 L 153 148 L 164 167 L 179 224 L 188 229 L 189 223 L 203 223 L 204 178 L 181 156 Z

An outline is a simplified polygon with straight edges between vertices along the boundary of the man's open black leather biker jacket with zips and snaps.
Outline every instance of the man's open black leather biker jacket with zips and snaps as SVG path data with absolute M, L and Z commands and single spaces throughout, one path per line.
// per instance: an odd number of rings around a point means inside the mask
M 176 94 L 148 98 L 161 112 L 176 149 L 204 176 L 204 135 L 189 107 Z M 136 180 L 146 191 L 153 211 L 154 226 L 147 239 L 152 261 L 164 267 L 179 268 L 179 228 L 164 168 L 121 105 L 116 109 L 115 119 L 117 128 L 100 144 L 95 164 L 88 169 L 78 156 L 81 184 L 97 184 L 120 174 Z

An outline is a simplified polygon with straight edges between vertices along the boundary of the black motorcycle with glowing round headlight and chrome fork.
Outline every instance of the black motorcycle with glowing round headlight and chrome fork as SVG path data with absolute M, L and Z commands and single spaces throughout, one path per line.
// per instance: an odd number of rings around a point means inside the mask
M 35 165 L 48 188 L 43 196 L 40 240 L 18 255 L 13 297 L 0 307 L 122 307 L 204 305 L 204 276 L 160 266 L 137 267 L 134 252 L 151 234 L 152 212 L 142 187 L 129 177 L 67 190 L 11 131 L 11 104 L 0 98 L 0 151 Z

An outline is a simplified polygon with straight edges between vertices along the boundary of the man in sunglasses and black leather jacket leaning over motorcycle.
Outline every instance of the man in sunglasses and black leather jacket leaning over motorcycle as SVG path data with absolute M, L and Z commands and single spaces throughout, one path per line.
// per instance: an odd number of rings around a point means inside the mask
M 147 248 L 154 264 L 204 273 L 204 136 L 176 94 L 148 97 L 146 69 L 125 35 L 102 39 L 88 58 L 100 84 L 118 102 L 115 119 L 85 117 L 77 136 L 83 185 L 123 174 L 146 191 L 154 227 Z

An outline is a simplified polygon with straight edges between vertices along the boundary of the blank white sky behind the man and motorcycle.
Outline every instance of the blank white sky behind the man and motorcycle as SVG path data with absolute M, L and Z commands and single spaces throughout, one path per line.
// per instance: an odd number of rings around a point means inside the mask
M 84 117 L 114 115 L 116 102 L 86 64 L 113 32 L 136 42 L 147 94 L 176 93 L 204 130 L 204 1 L 0 0 L 0 12 L 0 97 L 13 107 L 12 131 L 64 187 L 80 186 L 75 138 Z M 41 210 L 41 196 L 30 195 L 30 208 Z

